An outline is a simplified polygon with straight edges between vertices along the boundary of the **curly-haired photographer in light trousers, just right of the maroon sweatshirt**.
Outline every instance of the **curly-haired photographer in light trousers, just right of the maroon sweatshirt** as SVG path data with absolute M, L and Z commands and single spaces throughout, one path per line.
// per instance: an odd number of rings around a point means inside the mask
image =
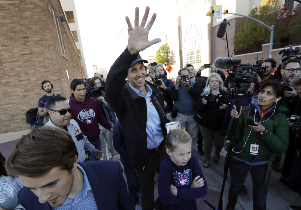
M 102 86 L 102 80 L 98 76 L 94 76 L 91 78 L 91 83 L 94 84 L 94 88 L 96 90 L 101 91 L 101 96 L 95 97 L 95 100 L 98 102 L 99 107 L 103 112 L 103 117 L 112 125 L 116 122 L 116 117 L 114 110 L 111 106 L 106 102 L 106 94 L 103 92 L 104 86 Z M 113 122 L 112 122 L 113 121 Z M 99 138 L 102 139 L 104 137 L 104 142 L 106 145 L 106 154 L 107 159 L 112 160 L 114 157 L 114 149 L 113 149 L 113 142 L 112 142 L 112 133 L 110 130 L 104 128 L 101 124 L 99 125 L 100 133 Z M 103 151 L 103 148 L 102 148 Z

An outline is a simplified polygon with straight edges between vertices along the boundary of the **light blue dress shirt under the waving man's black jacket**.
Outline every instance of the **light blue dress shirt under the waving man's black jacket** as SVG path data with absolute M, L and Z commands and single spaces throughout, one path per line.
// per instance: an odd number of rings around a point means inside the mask
M 147 112 L 147 119 L 146 119 L 146 140 L 147 140 L 147 148 L 153 149 L 161 144 L 164 140 L 163 130 L 161 129 L 161 119 L 159 114 L 154 106 L 154 102 L 152 102 L 151 94 L 153 90 L 150 86 L 145 82 L 145 86 L 147 87 L 146 96 L 144 95 L 143 91 L 137 90 L 135 87 L 132 87 L 129 84 L 129 87 L 132 88 L 139 96 L 145 98 L 146 102 L 146 112 Z

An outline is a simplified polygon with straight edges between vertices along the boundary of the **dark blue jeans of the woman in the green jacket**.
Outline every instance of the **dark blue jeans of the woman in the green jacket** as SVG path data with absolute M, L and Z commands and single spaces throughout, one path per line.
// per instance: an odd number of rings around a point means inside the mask
M 264 184 L 267 172 L 267 164 L 251 166 L 244 162 L 235 160 L 232 157 L 230 160 L 229 170 L 231 176 L 231 185 L 229 189 L 230 196 L 238 196 L 240 190 L 243 187 L 246 176 L 250 171 L 253 182 L 253 209 L 266 210 L 267 189 L 269 186 L 272 172 L 270 171 L 269 173 L 267 184 Z

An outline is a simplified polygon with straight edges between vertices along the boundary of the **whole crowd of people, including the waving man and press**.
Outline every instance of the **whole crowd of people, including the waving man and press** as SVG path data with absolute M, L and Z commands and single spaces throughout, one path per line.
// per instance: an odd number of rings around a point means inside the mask
M 134 27 L 126 17 L 128 46 L 106 79 L 95 73 L 72 80 L 69 100 L 54 93 L 51 81 L 42 81 L 46 94 L 39 99 L 35 128 L 7 160 L 0 154 L 1 210 L 197 209 L 207 182 L 193 153 L 204 155 L 202 166 L 208 168 L 212 146 L 218 162 L 233 131 L 227 210 L 235 209 L 249 172 L 253 209 L 266 209 L 272 168 L 301 195 L 300 60 L 285 57 L 274 75 L 276 61 L 263 60 L 266 68 L 256 82 L 244 84 L 247 94 L 237 108 L 225 69 L 211 65 L 204 77 L 205 66 L 196 71 L 186 64 L 174 83 L 163 65 L 141 58 L 140 51 L 161 41 L 148 40 L 156 18 L 154 13 L 145 27 L 148 13 L 147 7 L 139 25 L 136 8 Z M 177 129 L 167 132 L 166 123 L 173 121 Z M 104 156 L 102 139 L 107 160 L 114 149 L 120 154 L 127 184 L 119 162 L 97 161 Z

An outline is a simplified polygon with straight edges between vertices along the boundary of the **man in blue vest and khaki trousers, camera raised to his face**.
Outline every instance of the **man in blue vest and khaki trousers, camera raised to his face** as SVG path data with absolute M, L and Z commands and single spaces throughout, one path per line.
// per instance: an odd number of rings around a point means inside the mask
M 196 81 L 189 80 L 187 68 L 180 69 L 178 75 L 171 93 L 174 107 L 178 109 L 175 121 L 179 121 L 181 127 L 187 130 L 192 139 L 192 152 L 194 152 L 198 141 L 198 123 L 193 117 L 196 113 L 195 103 L 200 97 L 199 87 Z

